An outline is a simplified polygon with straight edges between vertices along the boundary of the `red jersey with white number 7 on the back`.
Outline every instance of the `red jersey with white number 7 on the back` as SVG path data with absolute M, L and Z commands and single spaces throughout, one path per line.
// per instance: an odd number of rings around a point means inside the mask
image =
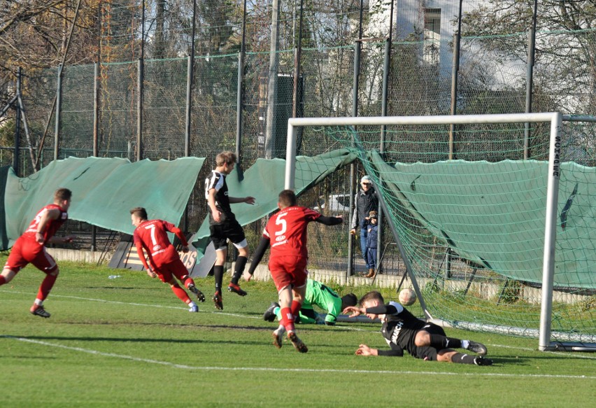
M 143 221 L 136 227 L 132 235 L 137 249 L 145 248 L 153 267 L 180 259 L 176 248 L 170 242 L 167 232 L 176 228 L 172 223 L 164 220 Z

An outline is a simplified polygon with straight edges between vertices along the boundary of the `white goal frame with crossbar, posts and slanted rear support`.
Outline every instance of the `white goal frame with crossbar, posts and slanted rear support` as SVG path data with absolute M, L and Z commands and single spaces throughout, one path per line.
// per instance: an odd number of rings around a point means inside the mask
M 544 258 L 542 262 L 542 293 L 541 315 L 539 329 L 539 350 L 547 351 L 561 349 L 560 342 L 551 342 L 551 314 L 553 310 L 553 279 L 555 269 L 555 234 L 556 209 L 558 202 L 558 185 L 560 178 L 561 153 L 561 113 L 512 113 L 502 115 L 444 115 L 444 116 L 375 116 L 375 117 L 343 117 L 343 118 L 290 118 L 288 120 L 288 144 L 285 164 L 285 188 L 293 190 L 295 187 L 295 160 L 297 129 L 304 126 L 363 126 L 363 125 L 469 125 L 483 123 L 526 123 L 550 122 L 551 139 L 548 155 L 548 183 L 546 192 L 546 220 L 544 232 Z M 383 201 L 383 200 L 381 200 Z M 381 203 L 383 204 L 383 203 Z M 383 204 L 386 205 L 386 204 Z M 392 223 L 390 227 L 392 227 Z M 395 226 L 392 227 L 395 235 Z M 421 306 L 428 317 L 432 318 L 423 303 L 420 288 L 413 279 L 411 267 L 406 254 L 399 244 L 399 237 L 395 237 L 404 262 L 406 272 L 411 276 L 413 286 L 421 301 Z

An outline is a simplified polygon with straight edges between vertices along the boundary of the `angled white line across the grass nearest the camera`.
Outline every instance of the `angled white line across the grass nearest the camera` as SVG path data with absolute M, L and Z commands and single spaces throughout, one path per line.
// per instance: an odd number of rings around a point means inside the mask
M 56 347 L 58 349 L 66 349 L 71 351 L 79 351 L 80 353 L 94 354 L 95 356 L 122 358 L 124 360 L 132 360 L 139 363 L 166 365 L 174 368 L 181 368 L 184 370 L 218 370 L 218 371 L 272 371 L 272 372 L 334 372 L 334 373 L 364 373 L 364 374 L 396 374 L 403 376 L 404 374 L 413 375 L 457 375 L 457 376 L 474 376 L 474 377 L 522 377 L 522 378 L 565 378 L 565 379 L 596 379 L 594 376 L 586 375 L 557 375 L 557 374 L 502 374 L 502 373 L 461 373 L 461 372 L 424 372 L 424 371 L 392 371 L 392 370 L 337 370 L 337 369 L 317 369 L 317 368 L 271 368 L 271 367 L 195 367 L 192 365 L 170 363 L 169 361 L 152 360 L 149 358 L 139 358 L 133 356 L 124 356 L 122 354 L 104 353 L 103 351 L 82 349 L 80 347 L 64 346 L 62 344 L 54 344 L 50 342 L 41 342 L 39 340 L 27 339 L 24 337 L 14 337 L 8 335 L 0 335 L 4 339 L 13 339 L 20 342 L 27 342 L 33 344 L 41 344 L 43 346 Z

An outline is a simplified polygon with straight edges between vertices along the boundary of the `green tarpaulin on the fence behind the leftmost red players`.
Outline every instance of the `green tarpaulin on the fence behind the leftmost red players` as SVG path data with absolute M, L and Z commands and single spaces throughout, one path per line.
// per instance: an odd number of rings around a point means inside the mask
M 3 249 L 12 246 L 37 211 L 53 201 L 59 187 L 73 192 L 69 209 L 73 220 L 132 234 L 129 209 L 143 206 L 151 218 L 178 223 L 203 163 L 204 158 L 197 157 L 134 163 L 69 157 L 25 178 L 4 168 L 0 175 L 6 176 L 2 181 L 6 223 L 0 225 L 0 237 L 5 233 L 9 242 L 3 242 Z

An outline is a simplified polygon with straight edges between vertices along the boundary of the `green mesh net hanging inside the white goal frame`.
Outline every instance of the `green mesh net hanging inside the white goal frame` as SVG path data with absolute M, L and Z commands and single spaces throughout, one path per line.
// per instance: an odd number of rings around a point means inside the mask
M 556 340 L 593 341 L 596 335 L 591 204 L 596 169 L 586 165 L 589 154 L 576 140 L 580 129 L 591 126 L 564 127 L 568 142 L 560 177 L 553 291 Z M 548 126 L 530 128 L 529 160 L 520 160 L 523 124 L 465 125 L 455 134 L 457 160 L 447 160 L 444 126 L 389 126 L 383 153 L 378 152 L 378 128 L 325 130 L 346 147 L 355 141 L 350 149 L 387 204 L 384 216 L 395 225 L 434 318 L 477 330 L 537 335 Z

